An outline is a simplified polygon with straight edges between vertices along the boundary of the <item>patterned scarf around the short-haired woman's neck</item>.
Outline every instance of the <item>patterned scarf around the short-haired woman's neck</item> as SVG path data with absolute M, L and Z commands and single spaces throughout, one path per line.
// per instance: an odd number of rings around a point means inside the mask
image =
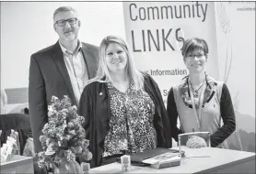
M 212 98 L 212 96 L 216 92 L 216 87 L 217 87 L 217 82 L 215 81 L 214 78 L 210 77 L 206 72 L 205 72 L 205 81 L 206 81 L 206 89 L 204 91 L 204 102 L 203 102 L 203 107 L 205 103 L 208 103 L 209 100 Z M 187 105 L 188 107 L 192 108 L 192 99 L 189 93 L 189 75 L 185 76 L 179 85 L 180 89 L 180 96 L 182 98 L 183 103 Z M 195 108 L 199 108 L 199 103 L 195 103 Z

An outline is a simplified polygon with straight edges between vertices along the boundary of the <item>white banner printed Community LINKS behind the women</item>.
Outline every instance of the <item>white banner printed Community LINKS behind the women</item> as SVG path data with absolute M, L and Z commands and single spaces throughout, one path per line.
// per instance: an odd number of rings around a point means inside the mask
M 123 13 L 135 64 L 156 80 L 165 102 L 170 87 L 189 74 L 180 51 L 187 38 L 206 40 L 206 71 L 218 79 L 213 2 L 123 2 Z

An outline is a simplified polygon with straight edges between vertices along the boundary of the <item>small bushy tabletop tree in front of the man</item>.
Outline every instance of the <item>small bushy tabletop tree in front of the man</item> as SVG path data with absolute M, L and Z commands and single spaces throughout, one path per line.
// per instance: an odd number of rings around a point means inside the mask
M 38 154 L 40 168 L 58 168 L 64 161 L 76 161 L 76 158 L 90 160 L 82 124 L 85 118 L 77 114 L 76 105 L 64 95 L 62 100 L 52 96 L 52 105 L 48 106 L 48 123 L 43 126 L 41 145 L 44 151 Z

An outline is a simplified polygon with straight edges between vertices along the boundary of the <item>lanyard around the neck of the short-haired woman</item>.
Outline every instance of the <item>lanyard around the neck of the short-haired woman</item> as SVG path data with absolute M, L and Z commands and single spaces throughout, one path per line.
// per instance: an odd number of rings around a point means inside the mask
M 193 93 L 192 93 L 192 83 L 190 82 L 190 79 L 189 79 L 189 91 L 190 91 L 191 99 L 192 99 L 192 110 L 193 110 L 193 113 L 194 113 L 195 118 L 196 118 L 197 127 L 200 131 L 201 131 L 202 108 L 203 108 L 203 102 L 204 102 L 204 91 L 205 91 L 205 89 L 206 89 L 206 85 L 203 84 L 203 90 L 202 90 L 202 92 L 200 94 L 200 97 L 199 97 L 199 108 L 198 108 L 198 113 L 197 113 L 196 108 L 195 108 Z

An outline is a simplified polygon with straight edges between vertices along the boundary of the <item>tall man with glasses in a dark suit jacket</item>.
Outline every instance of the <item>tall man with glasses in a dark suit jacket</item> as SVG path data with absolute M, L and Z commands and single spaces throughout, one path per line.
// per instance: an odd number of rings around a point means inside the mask
M 98 47 L 77 38 L 81 21 L 74 8 L 56 9 L 53 27 L 59 40 L 32 54 L 30 59 L 29 116 L 35 152 L 42 151 L 39 137 L 48 122 L 52 95 L 59 99 L 68 95 L 72 104 L 78 106 L 87 80 L 96 75 L 99 60 Z

